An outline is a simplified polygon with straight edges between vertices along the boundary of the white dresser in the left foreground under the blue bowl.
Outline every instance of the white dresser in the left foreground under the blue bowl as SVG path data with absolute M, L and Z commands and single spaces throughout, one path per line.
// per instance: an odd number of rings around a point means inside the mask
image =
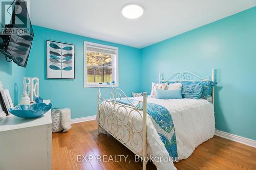
M 50 103 L 49 100 L 44 102 Z M 51 111 L 33 119 L 16 116 L 1 119 L 0 169 L 52 169 L 51 124 Z

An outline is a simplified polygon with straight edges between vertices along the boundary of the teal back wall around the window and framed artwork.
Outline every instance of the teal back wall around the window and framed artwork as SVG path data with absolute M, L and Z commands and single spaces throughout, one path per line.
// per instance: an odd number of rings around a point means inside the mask
M 69 107 L 72 118 L 96 115 L 97 88 L 83 88 L 83 41 L 118 47 L 119 87 L 126 94 L 140 91 L 140 50 L 38 26 L 33 26 L 34 39 L 26 68 L 27 77 L 39 78 L 39 95 L 51 99 L 54 106 Z M 46 40 L 75 45 L 75 80 L 46 79 Z

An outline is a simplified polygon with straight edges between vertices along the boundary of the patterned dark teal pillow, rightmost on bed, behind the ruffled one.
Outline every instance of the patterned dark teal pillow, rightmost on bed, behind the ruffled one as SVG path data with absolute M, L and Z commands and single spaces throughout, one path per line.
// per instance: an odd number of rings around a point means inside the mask
M 212 81 L 206 81 L 206 82 L 182 82 L 183 85 L 191 85 L 191 84 L 202 84 L 203 87 L 203 92 L 201 95 L 202 99 L 206 99 L 208 102 L 212 103 L 212 89 L 214 86 L 217 84 L 217 82 L 212 82 Z

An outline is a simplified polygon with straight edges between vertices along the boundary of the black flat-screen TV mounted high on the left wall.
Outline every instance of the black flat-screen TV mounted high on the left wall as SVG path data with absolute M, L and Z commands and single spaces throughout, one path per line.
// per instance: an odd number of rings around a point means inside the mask
M 10 24 L 5 25 L 0 33 L 1 56 L 4 55 L 6 59 L 9 58 L 22 67 L 27 66 L 34 37 L 26 3 L 23 0 L 16 0 L 10 4 Z

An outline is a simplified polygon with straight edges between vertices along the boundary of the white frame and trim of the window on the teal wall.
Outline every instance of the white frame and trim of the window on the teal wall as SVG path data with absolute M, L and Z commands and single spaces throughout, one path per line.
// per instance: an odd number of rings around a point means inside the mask
M 113 66 L 114 71 L 112 73 L 112 75 L 114 77 L 114 80 L 115 80 L 115 84 L 87 83 L 87 53 L 86 53 L 87 52 L 87 45 L 94 45 L 94 46 L 111 48 L 113 50 L 116 50 L 116 56 L 114 58 L 112 58 L 112 66 L 115 65 L 115 66 Z M 83 80 L 84 80 L 83 87 L 84 88 L 118 87 L 119 86 L 119 81 L 118 81 L 118 47 L 84 41 L 83 42 L 83 62 L 84 62 L 83 63 Z

